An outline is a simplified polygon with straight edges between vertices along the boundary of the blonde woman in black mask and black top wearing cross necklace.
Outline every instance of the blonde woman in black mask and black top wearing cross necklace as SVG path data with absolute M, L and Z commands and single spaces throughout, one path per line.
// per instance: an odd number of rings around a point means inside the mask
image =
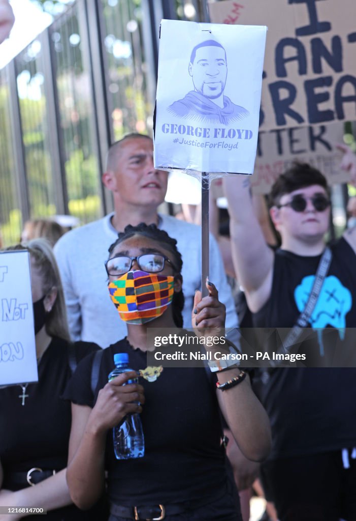
M 51 521 L 104 519 L 100 512 L 84 513 L 72 504 L 65 481 L 71 410 L 60 398 L 77 362 L 98 348 L 69 341 L 49 243 L 36 239 L 11 250 L 30 253 L 38 382 L 0 389 L 0 520 L 39 514 L 38 508 L 47 510 Z

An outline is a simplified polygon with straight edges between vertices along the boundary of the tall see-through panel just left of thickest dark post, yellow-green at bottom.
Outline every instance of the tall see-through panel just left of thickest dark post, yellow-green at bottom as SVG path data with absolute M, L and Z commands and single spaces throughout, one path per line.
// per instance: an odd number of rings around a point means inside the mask
M 69 212 L 84 223 L 100 217 L 102 208 L 89 60 L 79 16 L 78 6 L 74 6 L 67 16 L 55 22 L 51 44 L 57 62 Z

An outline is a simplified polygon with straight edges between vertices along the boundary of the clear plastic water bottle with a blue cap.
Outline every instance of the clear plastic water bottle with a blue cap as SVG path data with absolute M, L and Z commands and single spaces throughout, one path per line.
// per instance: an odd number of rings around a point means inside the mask
M 113 378 L 127 371 L 133 371 L 128 366 L 128 354 L 114 354 L 115 369 L 109 374 L 109 382 Z M 126 383 L 137 383 L 138 378 L 128 380 Z M 124 385 L 126 385 L 126 383 Z M 144 455 L 144 437 L 141 418 L 138 413 L 127 414 L 119 425 L 112 430 L 114 452 L 117 460 L 142 457 Z

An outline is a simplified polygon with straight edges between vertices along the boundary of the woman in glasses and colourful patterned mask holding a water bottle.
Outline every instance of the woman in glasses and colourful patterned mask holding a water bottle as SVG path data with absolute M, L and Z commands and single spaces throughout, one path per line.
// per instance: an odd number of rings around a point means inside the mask
M 95 356 L 88 355 L 64 393 L 72 402 L 67 472 L 71 497 L 80 508 L 91 506 L 100 497 L 107 470 L 110 521 L 241 521 L 229 491 L 220 410 L 246 457 L 261 461 L 270 449 L 267 414 L 238 365 L 214 373 L 189 364 L 148 363 L 150 328 L 154 333 L 168 328 L 184 338 L 189 334 L 181 329 L 182 258 L 176 244 L 153 224 L 129 225 L 118 235 L 106 263 L 107 297 L 126 322 L 127 337 L 101 351 L 94 386 Z M 204 328 L 214 328 L 212 334 L 225 323 L 217 289 L 209 281 L 206 287 L 209 295 L 202 299 L 197 291 L 191 313 L 197 336 Z M 168 346 L 170 353 L 176 349 Z M 139 371 L 139 384 L 124 385 L 137 377 L 132 372 L 108 382 L 114 354 L 122 352 Z M 137 412 L 144 455 L 116 460 L 111 430 L 127 413 Z

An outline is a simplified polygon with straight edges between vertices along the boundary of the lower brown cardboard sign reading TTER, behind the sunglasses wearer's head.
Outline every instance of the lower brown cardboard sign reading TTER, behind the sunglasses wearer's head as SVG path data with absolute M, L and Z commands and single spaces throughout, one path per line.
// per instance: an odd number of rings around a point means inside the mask
M 342 153 L 335 148 L 335 143 L 342 143 L 343 134 L 342 123 L 260 131 L 252 190 L 269 193 L 294 160 L 318 168 L 328 184 L 349 182 L 350 174 L 340 169 Z

